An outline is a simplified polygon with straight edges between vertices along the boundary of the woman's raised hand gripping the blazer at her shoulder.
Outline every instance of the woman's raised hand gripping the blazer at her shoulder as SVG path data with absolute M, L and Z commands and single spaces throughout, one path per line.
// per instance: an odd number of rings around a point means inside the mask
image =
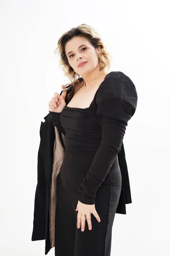
M 64 85 L 62 85 L 62 89 L 66 89 Z M 56 113 L 62 112 L 63 108 L 65 107 L 65 96 L 67 91 L 62 92 L 61 95 L 58 93 L 54 93 L 54 97 L 51 98 L 51 101 L 48 102 L 48 109 L 49 111 L 53 111 Z

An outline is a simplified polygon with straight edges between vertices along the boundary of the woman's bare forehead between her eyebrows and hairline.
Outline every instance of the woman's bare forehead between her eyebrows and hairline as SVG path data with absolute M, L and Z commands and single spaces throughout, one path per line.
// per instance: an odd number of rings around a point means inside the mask
M 87 44 L 90 45 L 90 42 L 88 41 L 88 38 L 76 36 L 74 38 L 71 38 L 66 44 L 65 44 L 65 52 L 74 51 L 77 50 L 78 47 L 81 44 Z

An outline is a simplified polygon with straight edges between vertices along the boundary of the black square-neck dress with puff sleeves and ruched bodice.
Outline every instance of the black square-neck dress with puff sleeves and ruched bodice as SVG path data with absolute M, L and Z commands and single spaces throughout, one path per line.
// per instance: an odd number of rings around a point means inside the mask
M 57 177 L 56 256 L 110 256 L 111 234 L 121 192 L 118 153 L 127 122 L 136 111 L 137 94 L 122 72 L 105 76 L 88 108 L 65 106 L 49 111 L 65 134 L 65 155 Z M 78 200 L 95 204 L 92 230 L 77 228 Z

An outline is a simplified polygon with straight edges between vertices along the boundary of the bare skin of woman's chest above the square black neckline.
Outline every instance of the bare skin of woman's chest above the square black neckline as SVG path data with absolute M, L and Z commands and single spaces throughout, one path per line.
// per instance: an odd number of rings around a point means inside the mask
M 94 85 L 88 84 L 87 86 L 82 86 L 83 81 L 81 81 L 79 85 L 75 87 L 74 96 L 67 106 L 70 108 L 89 108 L 102 81 Z M 80 86 L 82 86 L 82 88 L 80 88 Z

